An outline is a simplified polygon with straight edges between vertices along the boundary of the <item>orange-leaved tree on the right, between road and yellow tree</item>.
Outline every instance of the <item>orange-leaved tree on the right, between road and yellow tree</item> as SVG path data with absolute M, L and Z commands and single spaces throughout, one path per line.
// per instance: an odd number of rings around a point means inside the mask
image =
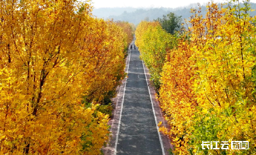
M 180 152 L 186 152 L 183 145 L 189 141 L 187 130 L 193 121 L 195 107 L 198 106 L 193 93 L 193 77 L 195 76 L 195 62 L 189 57 L 193 52 L 189 49 L 189 41 L 180 38 L 176 49 L 170 50 L 161 73 L 161 89 L 159 101 L 171 130 L 161 128 L 166 134 L 179 135 L 177 145 Z

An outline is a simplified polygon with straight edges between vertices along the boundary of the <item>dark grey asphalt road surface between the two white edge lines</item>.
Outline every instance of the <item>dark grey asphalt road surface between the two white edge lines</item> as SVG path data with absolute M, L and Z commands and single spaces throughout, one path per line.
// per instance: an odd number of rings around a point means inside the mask
M 140 52 L 132 45 L 116 154 L 163 154 Z

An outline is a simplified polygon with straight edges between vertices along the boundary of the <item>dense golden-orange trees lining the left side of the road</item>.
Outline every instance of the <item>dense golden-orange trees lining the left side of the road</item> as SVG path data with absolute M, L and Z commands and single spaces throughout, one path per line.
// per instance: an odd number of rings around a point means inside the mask
M 124 78 L 132 29 L 91 11 L 90 1 L 0 1 L 0 154 L 100 154 L 101 104 Z

